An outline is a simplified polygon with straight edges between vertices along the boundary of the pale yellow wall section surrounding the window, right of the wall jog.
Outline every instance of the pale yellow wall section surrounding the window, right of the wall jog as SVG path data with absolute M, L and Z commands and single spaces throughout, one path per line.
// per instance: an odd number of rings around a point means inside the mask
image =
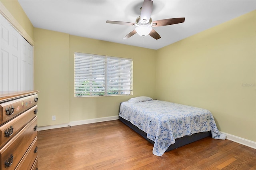
M 133 59 L 133 96 L 74 97 L 74 52 Z M 70 121 L 117 116 L 120 102 L 131 97 L 155 96 L 156 50 L 70 36 Z

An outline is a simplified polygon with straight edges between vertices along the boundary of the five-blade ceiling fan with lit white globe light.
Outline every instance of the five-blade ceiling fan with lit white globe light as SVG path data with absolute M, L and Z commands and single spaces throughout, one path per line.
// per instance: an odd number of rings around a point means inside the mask
M 152 0 L 144 0 L 142 7 L 140 8 L 140 16 L 136 19 L 136 23 L 108 20 L 106 21 L 106 23 L 136 26 L 135 30 L 127 34 L 127 36 L 125 36 L 123 40 L 130 38 L 136 33 L 138 33 L 142 37 L 147 36 L 149 34 L 151 37 L 158 40 L 161 37 L 152 27 L 168 26 L 172 24 L 179 24 L 185 21 L 185 18 L 169 18 L 152 22 L 152 6 Z

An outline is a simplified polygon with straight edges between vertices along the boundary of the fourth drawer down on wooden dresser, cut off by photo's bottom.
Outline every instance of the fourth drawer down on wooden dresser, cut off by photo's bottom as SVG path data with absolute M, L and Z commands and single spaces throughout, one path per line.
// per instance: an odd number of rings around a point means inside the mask
M 26 154 L 23 156 L 22 160 L 15 168 L 15 170 L 30 170 L 37 157 L 37 137 L 34 139 L 33 143 L 28 148 Z

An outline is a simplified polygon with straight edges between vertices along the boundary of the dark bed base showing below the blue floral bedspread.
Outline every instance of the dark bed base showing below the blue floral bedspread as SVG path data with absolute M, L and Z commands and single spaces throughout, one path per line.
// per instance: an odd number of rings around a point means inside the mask
M 138 127 L 136 127 L 135 125 L 132 125 L 132 123 L 130 123 L 130 121 L 127 121 L 126 119 L 123 119 L 122 117 L 119 117 L 119 120 L 124 123 L 125 125 L 127 125 L 128 127 L 130 127 L 132 130 L 134 130 L 135 132 L 137 132 L 138 134 L 140 134 L 142 137 L 144 137 L 146 140 L 148 140 L 148 142 L 154 144 L 154 141 L 150 140 L 149 138 L 147 138 L 147 134 L 146 132 L 140 130 Z M 195 142 L 197 140 L 200 140 L 202 138 L 206 138 L 208 136 L 212 136 L 211 131 L 208 132 L 199 132 L 199 133 L 195 133 L 192 134 L 191 136 L 183 136 L 182 138 L 176 138 L 175 139 L 175 143 L 171 144 L 169 146 L 169 148 L 166 150 L 166 152 L 176 149 L 178 147 L 184 146 L 186 144 L 190 144 L 192 142 Z

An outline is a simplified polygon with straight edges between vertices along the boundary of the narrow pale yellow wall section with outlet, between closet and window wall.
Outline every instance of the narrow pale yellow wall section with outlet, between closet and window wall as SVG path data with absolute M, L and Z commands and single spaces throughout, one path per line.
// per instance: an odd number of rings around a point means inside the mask
M 38 126 L 69 122 L 69 35 L 34 28 Z M 56 121 L 52 121 L 52 115 Z

